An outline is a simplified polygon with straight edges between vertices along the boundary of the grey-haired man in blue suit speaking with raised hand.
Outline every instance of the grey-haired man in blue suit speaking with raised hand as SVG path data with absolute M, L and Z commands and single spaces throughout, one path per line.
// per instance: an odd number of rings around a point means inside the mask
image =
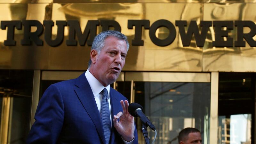
M 88 70 L 44 92 L 27 143 L 138 144 L 129 103 L 109 86 L 124 67 L 128 49 L 127 37 L 118 31 L 97 35 Z

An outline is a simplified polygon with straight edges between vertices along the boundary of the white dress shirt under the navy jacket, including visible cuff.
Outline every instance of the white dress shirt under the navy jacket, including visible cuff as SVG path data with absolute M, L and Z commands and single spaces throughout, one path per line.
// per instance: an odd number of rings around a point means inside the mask
M 89 69 L 86 70 L 85 72 L 85 77 L 92 89 L 92 93 L 94 95 L 97 107 L 99 109 L 99 112 L 101 110 L 101 99 L 102 99 L 102 93 L 101 91 L 106 88 L 108 90 L 108 106 L 109 106 L 109 117 L 110 117 L 110 122 L 112 125 L 112 117 L 111 117 L 111 104 L 110 104 L 110 97 L 109 97 L 109 89 L 110 89 L 110 85 L 104 87 L 94 76 L 92 76 L 92 74 L 90 73 Z M 124 144 L 132 144 L 133 140 L 130 142 L 125 141 L 123 138 L 122 140 L 124 141 Z

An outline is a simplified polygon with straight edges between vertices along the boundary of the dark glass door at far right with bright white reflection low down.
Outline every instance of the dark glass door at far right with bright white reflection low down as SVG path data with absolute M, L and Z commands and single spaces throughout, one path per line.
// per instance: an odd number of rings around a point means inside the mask
M 218 144 L 255 140 L 255 73 L 219 74 Z

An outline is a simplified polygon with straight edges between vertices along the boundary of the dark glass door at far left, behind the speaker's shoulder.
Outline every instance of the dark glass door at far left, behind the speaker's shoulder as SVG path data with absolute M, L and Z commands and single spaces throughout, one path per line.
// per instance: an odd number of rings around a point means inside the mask
M 0 143 L 25 144 L 34 70 L 0 70 Z

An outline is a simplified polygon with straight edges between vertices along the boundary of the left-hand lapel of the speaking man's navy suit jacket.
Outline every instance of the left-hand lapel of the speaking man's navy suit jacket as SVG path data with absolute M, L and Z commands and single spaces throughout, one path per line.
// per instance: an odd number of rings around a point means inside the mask
M 77 78 L 76 86 L 77 86 L 77 88 L 75 89 L 75 92 L 77 94 L 77 97 L 83 104 L 84 109 L 87 111 L 87 113 L 91 117 L 92 122 L 94 123 L 98 133 L 100 134 L 100 138 L 101 138 L 102 142 L 104 144 L 106 144 L 106 140 L 105 140 L 104 132 L 103 132 L 103 126 L 102 126 L 102 123 L 100 120 L 99 109 L 95 102 L 95 98 L 92 93 L 92 89 L 91 89 L 84 73 Z

